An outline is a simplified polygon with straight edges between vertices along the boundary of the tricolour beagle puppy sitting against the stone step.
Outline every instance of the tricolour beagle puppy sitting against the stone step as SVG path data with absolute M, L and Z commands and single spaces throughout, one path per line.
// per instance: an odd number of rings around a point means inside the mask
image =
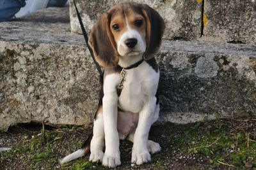
M 93 135 L 61 163 L 90 150 L 91 162 L 119 166 L 120 139 L 133 142 L 131 162 L 138 165 L 150 161 L 150 153 L 161 150 L 158 143 L 148 140 L 148 132 L 159 117 L 159 69 L 154 57 L 164 29 L 157 11 L 133 2 L 117 4 L 97 21 L 89 44 L 104 67 L 104 75 Z

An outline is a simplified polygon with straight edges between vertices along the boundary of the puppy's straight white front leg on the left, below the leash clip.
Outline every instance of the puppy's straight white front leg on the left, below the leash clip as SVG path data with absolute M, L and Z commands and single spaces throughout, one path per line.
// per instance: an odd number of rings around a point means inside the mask
M 107 167 L 116 167 L 121 164 L 117 131 L 118 96 L 116 94 L 116 84 L 118 80 L 119 74 L 117 74 L 117 77 L 115 74 L 108 75 L 104 80 L 104 97 L 102 102 L 106 150 L 102 164 Z

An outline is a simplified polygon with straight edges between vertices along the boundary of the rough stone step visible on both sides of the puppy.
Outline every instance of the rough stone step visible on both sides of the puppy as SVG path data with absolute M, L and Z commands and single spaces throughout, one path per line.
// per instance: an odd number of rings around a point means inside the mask
M 0 130 L 22 122 L 88 124 L 98 73 L 67 8 L 0 24 Z M 256 114 L 256 46 L 164 41 L 160 121 L 188 123 Z

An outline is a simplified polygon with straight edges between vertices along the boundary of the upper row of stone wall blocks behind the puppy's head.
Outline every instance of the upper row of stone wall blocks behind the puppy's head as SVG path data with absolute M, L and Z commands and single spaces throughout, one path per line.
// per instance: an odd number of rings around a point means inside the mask
M 77 0 L 86 30 L 111 6 L 125 0 Z M 256 1 L 254 0 L 167 0 L 147 1 L 166 22 L 165 39 L 256 44 Z M 73 1 L 70 1 L 71 31 L 81 34 Z

